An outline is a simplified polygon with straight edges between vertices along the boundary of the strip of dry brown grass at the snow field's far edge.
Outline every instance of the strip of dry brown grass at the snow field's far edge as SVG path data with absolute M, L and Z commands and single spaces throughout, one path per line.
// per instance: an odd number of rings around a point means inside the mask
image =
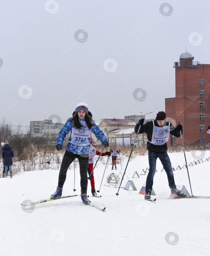
M 102 145 L 94 145 L 94 147 L 101 152 L 103 149 Z M 117 157 L 117 164 L 120 165 L 122 164 L 127 158 L 129 158 L 130 153 L 131 153 L 131 148 L 132 147 L 121 147 L 121 154 L 118 155 Z M 206 150 L 209 148 L 202 148 L 198 145 L 195 146 L 185 146 L 184 147 L 185 151 L 192 151 L 192 150 Z M 103 152 L 109 151 L 110 148 L 104 149 Z M 119 150 L 119 147 L 118 147 Z M 173 152 L 182 152 L 183 147 L 182 145 L 177 145 L 168 148 L 168 152 L 173 153 Z M 27 150 L 23 150 L 22 154 L 19 158 L 14 157 L 13 158 L 13 166 L 12 166 L 12 173 L 17 174 L 19 172 L 27 172 L 27 171 L 35 171 L 35 170 L 46 170 L 46 169 L 55 169 L 59 170 L 62 162 L 63 155 L 65 153 L 65 148 L 63 148 L 61 151 L 57 152 L 54 157 L 50 160 L 50 165 L 47 164 L 46 162 L 49 161 L 50 157 L 53 155 L 55 152 L 55 148 L 27 148 Z M 137 155 L 146 155 L 148 154 L 148 150 L 146 150 L 146 146 L 141 146 L 141 147 L 134 147 L 133 152 L 130 157 L 130 161 L 132 161 Z M 96 160 L 98 156 L 96 156 Z M 110 157 L 111 160 L 111 157 Z M 109 160 L 109 161 L 110 161 Z M 127 160 L 126 160 L 127 161 Z M 107 157 L 100 157 L 98 164 L 95 168 L 101 165 L 106 165 L 107 162 Z M 76 159 L 75 160 L 75 165 L 72 163 L 69 167 L 69 169 L 74 169 L 79 167 L 79 162 Z M 3 172 L 3 164 L 2 162 L 0 163 L 0 169 L 1 169 L 1 174 Z

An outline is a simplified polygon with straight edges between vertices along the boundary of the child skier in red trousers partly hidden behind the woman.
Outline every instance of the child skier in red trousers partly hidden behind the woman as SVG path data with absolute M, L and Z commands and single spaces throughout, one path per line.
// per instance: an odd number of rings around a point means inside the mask
M 97 197 L 97 193 L 96 193 L 96 190 L 95 190 L 95 181 L 94 181 L 94 176 L 93 176 L 93 162 L 95 160 L 95 156 L 96 155 L 100 155 L 101 152 L 97 151 L 96 148 L 94 148 L 93 146 L 93 140 L 90 139 L 90 153 L 89 153 L 89 164 L 88 164 L 88 174 L 89 176 L 91 175 L 91 192 L 92 192 L 92 195 Z M 110 156 L 111 155 L 111 152 L 108 152 L 106 151 L 106 153 L 102 153 L 101 155 L 108 155 Z M 91 174 L 92 172 L 92 174 Z

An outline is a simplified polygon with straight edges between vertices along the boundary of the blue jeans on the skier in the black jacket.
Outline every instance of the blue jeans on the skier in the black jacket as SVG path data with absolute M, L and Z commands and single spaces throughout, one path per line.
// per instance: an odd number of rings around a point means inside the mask
M 163 152 L 163 153 L 156 153 L 156 152 L 152 152 L 152 151 L 148 151 L 148 158 L 149 158 L 149 173 L 148 176 L 146 178 L 146 190 L 151 189 L 152 190 L 152 186 L 153 186 L 153 177 L 155 174 L 155 169 L 156 169 L 156 161 L 157 158 L 160 159 L 163 168 L 167 174 L 168 177 L 168 185 L 169 187 L 175 187 L 175 182 L 174 182 L 174 177 L 173 177 L 173 171 L 172 171 L 172 167 L 171 167 L 171 161 L 169 159 L 169 156 L 167 154 L 167 151 Z

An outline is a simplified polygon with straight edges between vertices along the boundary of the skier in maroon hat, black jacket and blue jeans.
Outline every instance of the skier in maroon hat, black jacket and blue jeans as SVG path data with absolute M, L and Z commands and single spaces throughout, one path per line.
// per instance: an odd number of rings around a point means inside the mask
M 169 188 L 171 189 L 171 193 L 173 195 L 177 195 L 179 197 L 184 196 L 183 193 L 179 192 L 176 188 L 173 171 L 171 167 L 171 161 L 167 154 L 167 141 L 169 138 L 169 134 L 172 134 L 175 137 L 180 137 L 180 131 L 183 133 L 183 128 L 181 124 L 178 124 L 177 127 L 174 127 L 171 123 L 165 121 L 166 114 L 163 111 L 157 113 L 156 119 L 152 121 L 146 122 L 144 124 L 144 118 L 138 121 L 138 124 L 135 126 L 135 133 L 138 132 L 138 129 L 141 125 L 139 133 L 146 133 L 148 142 L 148 158 L 149 158 L 149 173 L 146 178 L 146 188 L 145 188 L 145 199 L 150 199 L 152 186 L 153 186 L 153 178 L 156 169 L 156 161 L 157 158 L 160 159 L 163 168 L 168 177 Z

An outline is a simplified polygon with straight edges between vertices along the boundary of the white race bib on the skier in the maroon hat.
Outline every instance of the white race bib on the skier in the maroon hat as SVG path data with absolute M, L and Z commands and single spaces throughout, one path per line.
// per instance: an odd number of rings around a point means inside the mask
M 154 145 L 163 145 L 168 141 L 170 134 L 170 126 L 157 127 L 154 126 L 153 120 L 153 133 L 151 143 Z

